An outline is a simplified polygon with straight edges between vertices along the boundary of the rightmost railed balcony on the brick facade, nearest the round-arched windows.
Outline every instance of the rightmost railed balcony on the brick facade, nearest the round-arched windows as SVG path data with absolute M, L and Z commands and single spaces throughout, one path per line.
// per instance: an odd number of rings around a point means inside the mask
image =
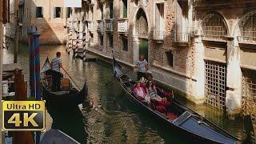
M 174 34 L 174 46 L 189 46 L 190 33 Z

